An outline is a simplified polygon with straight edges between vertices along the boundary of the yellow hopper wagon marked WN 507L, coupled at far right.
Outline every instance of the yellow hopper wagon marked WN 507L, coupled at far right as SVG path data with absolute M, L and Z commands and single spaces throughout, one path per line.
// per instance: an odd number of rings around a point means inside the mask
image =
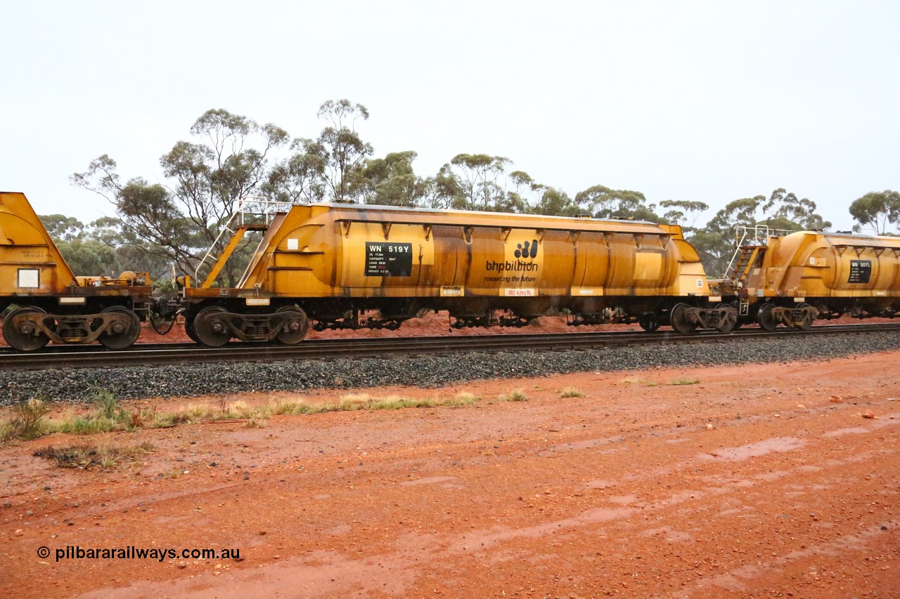
M 741 293 L 763 328 L 900 311 L 900 237 L 799 231 L 770 237 L 758 255 Z

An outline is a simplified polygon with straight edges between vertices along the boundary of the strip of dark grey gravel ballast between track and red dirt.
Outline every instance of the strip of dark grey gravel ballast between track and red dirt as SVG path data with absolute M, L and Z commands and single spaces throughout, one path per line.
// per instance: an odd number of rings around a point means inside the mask
M 57 401 L 85 401 L 94 398 L 98 389 L 112 391 L 118 399 L 144 399 L 386 385 L 440 387 L 468 380 L 504 380 L 565 372 L 808 361 L 898 349 L 900 333 L 884 332 L 809 337 L 790 335 L 740 343 L 594 350 L 0 371 L 0 381 L 6 389 L 3 398 L 0 398 L 0 405 L 41 395 Z

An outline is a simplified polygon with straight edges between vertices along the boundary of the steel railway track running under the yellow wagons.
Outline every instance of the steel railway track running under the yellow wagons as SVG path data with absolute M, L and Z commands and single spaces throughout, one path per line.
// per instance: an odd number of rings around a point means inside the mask
M 0 370 L 44 370 L 62 368 L 110 368 L 204 362 L 273 362 L 280 360 L 325 360 L 347 357 L 378 358 L 391 355 L 518 352 L 620 347 L 624 345 L 725 344 L 751 337 L 788 338 L 794 335 L 863 335 L 872 331 L 900 331 L 900 324 L 814 326 L 809 331 L 759 328 L 738 329 L 723 334 L 701 331 L 690 335 L 672 331 L 617 331 L 606 333 L 557 333 L 520 335 L 471 335 L 388 337 L 381 339 L 316 339 L 298 345 L 231 343 L 220 348 L 196 344 L 137 344 L 127 350 L 110 351 L 100 345 L 51 346 L 39 352 L 0 352 Z

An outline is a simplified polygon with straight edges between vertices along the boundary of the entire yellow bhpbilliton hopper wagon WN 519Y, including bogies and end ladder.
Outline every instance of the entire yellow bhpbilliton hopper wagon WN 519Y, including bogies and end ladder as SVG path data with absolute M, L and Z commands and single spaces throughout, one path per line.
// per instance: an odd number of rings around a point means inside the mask
M 265 233 L 246 273 L 214 287 L 251 229 Z M 308 318 L 320 329 L 394 328 L 430 309 L 457 327 L 524 326 L 554 310 L 573 324 L 649 330 L 734 324 L 732 308 L 710 307 L 708 296 L 676 226 L 353 204 L 296 205 L 266 227 L 236 228 L 205 281 L 184 290 L 189 331 L 209 345 L 297 343 Z

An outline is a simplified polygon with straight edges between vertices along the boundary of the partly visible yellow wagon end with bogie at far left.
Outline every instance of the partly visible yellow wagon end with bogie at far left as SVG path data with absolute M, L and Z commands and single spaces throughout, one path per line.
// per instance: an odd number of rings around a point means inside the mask
M 76 276 L 23 193 L 0 192 L 0 309 L 7 344 L 133 344 L 150 300 L 147 273 Z

